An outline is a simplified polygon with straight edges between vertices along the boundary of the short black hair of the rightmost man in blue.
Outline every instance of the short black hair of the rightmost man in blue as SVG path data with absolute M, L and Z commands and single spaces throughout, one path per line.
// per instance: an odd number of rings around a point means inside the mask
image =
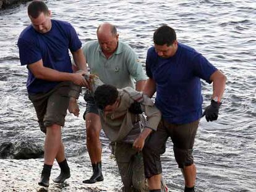
M 153 40 L 155 44 L 170 46 L 176 40 L 175 30 L 168 25 L 162 25 L 156 29 Z

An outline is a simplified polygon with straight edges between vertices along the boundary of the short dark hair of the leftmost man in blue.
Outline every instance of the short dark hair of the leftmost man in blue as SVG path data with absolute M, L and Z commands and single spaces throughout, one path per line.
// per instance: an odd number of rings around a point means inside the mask
M 28 5 L 28 15 L 36 19 L 41 12 L 43 12 L 45 15 L 49 13 L 48 7 L 46 6 L 45 2 L 43 1 L 32 1 Z

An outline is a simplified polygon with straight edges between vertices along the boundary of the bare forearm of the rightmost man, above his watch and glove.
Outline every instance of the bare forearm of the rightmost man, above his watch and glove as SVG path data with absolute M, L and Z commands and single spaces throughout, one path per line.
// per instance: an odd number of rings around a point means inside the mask
M 211 75 L 210 80 L 213 81 L 213 99 L 217 97 L 218 102 L 220 102 L 225 90 L 227 78 L 220 70 L 216 70 Z

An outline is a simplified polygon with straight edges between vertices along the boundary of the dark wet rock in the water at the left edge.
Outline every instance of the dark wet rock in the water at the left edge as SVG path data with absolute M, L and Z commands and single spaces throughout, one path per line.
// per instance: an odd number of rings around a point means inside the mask
M 36 159 L 43 157 L 43 153 L 43 146 L 31 143 L 31 141 L 0 144 L 1 159 Z

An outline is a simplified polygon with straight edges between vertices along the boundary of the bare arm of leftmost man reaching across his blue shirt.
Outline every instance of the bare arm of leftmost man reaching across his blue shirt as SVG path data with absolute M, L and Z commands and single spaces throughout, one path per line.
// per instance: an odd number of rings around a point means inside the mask
M 84 72 L 81 73 L 66 73 L 59 72 L 43 65 L 43 61 L 37 61 L 33 64 L 28 65 L 28 69 L 38 79 L 48 81 L 72 81 L 73 83 L 80 86 L 87 86 L 87 81 L 83 78 Z

